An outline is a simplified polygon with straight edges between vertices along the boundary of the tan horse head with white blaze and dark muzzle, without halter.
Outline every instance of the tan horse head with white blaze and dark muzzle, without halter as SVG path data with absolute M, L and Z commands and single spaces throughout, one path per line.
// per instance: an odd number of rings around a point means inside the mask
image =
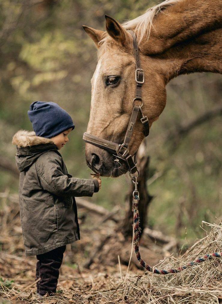
M 135 98 L 135 58 L 133 37 L 113 18 L 106 16 L 106 32 L 83 26 L 98 48 L 98 63 L 93 74 L 92 99 L 87 133 L 114 143 L 122 143 L 133 110 Z M 149 126 L 158 119 L 165 107 L 165 78 L 161 64 L 140 52 L 145 74 L 142 89 L 143 112 Z M 140 101 L 136 101 L 141 105 Z M 134 155 L 144 139 L 141 117 L 137 117 L 129 143 Z M 115 168 L 115 156 L 107 150 L 86 143 L 85 156 L 88 166 L 102 176 L 117 177 L 127 172 L 127 164 Z

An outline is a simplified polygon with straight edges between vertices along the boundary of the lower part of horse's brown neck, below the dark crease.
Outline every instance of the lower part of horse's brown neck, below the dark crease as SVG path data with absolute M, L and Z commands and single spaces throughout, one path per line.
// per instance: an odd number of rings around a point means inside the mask
M 222 73 L 222 30 L 205 33 L 171 47 L 163 54 L 149 56 L 156 62 L 165 82 L 172 78 L 194 72 Z

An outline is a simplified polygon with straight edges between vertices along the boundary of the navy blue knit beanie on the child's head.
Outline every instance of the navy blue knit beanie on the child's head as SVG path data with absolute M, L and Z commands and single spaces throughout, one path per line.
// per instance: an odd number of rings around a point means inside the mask
M 28 116 L 37 136 L 51 138 L 75 128 L 71 116 L 55 102 L 33 102 Z

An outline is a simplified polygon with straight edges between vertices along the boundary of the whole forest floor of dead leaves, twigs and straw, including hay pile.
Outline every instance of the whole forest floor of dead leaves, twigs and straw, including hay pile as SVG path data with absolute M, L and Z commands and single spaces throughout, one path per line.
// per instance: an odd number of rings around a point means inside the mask
M 56 294 L 39 297 L 36 257 L 25 257 L 19 205 L 14 199 L 10 196 L 2 199 L 0 209 L 0 303 L 218 304 L 222 301 L 220 219 L 216 224 L 203 221 L 206 236 L 183 253 L 175 247 L 170 252 L 164 251 L 163 244 L 144 233 L 141 256 L 158 269 L 175 269 L 211 254 L 205 262 L 193 262 L 179 273 L 155 275 L 139 268 L 134 251 L 131 256 L 132 240 L 124 239 L 115 221 L 103 221 L 85 208 L 79 208 L 81 240 L 67 245 Z M 219 257 L 213 257 L 213 253 L 219 253 Z

